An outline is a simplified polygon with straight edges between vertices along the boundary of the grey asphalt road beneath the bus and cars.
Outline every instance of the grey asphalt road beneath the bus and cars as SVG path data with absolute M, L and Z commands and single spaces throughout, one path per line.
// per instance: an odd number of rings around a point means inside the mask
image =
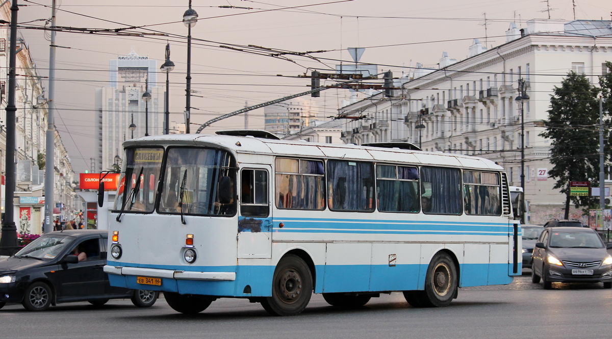
M 526 270 L 527 272 L 528 270 Z M 525 273 L 526 273 L 525 272 Z M 220 299 L 185 316 L 160 299 L 139 309 L 129 300 L 103 307 L 60 304 L 42 313 L 21 305 L 0 310 L 4 338 L 610 338 L 612 290 L 602 284 L 553 284 L 529 275 L 504 286 L 461 289 L 446 308 L 412 308 L 401 293 L 384 294 L 357 310 L 314 295 L 302 315 L 267 315 L 248 300 Z

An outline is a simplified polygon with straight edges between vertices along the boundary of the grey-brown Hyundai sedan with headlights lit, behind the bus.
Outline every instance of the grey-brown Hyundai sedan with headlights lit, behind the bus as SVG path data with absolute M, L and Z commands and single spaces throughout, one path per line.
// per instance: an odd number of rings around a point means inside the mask
M 531 281 L 550 289 L 553 282 L 597 283 L 612 288 L 612 256 L 591 228 L 545 228 L 532 253 Z

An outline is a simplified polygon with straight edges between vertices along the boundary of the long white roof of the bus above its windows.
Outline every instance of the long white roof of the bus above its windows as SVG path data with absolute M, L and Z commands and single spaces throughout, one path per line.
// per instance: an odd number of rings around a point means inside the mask
M 217 146 L 237 154 L 267 154 L 285 157 L 343 158 L 389 163 L 458 166 L 485 170 L 503 170 L 491 160 L 469 155 L 414 151 L 399 148 L 326 144 L 308 141 L 272 140 L 253 136 L 170 134 L 143 136 L 124 142 L 124 147 L 138 146 Z

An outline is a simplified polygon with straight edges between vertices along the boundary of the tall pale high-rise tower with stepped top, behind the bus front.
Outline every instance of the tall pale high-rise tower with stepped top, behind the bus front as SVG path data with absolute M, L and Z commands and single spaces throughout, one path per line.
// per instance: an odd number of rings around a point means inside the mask
M 132 51 L 111 60 L 109 72 L 109 86 L 95 89 L 95 171 L 112 168 L 117 161 L 115 156 L 123 157 L 122 143 L 145 135 L 147 120 L 149 135 L 163 133 L 165 92 L 157 86 L 157 60 Z M 148 103 L 143 100 L 147 89 L 151 94 Z M 129 129 L 132 123 L 136 125 L 133 131 Z

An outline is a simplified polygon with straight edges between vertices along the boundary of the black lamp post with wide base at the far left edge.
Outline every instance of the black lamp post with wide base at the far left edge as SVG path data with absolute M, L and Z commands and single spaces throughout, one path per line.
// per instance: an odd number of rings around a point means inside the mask
M 15 198 L 15 67 L 17 47 L 17 0 L 10 6 L 10 45 L 9 45 L 9 97 L 6 105 L 6 188 L 4 201 L 4 220 L 2 220 L 2 238 L 0 247 L 17 246 L 17 225 L 15 225 L 13 199 Z M 2 255 L 12 255 L 2 253 Z

